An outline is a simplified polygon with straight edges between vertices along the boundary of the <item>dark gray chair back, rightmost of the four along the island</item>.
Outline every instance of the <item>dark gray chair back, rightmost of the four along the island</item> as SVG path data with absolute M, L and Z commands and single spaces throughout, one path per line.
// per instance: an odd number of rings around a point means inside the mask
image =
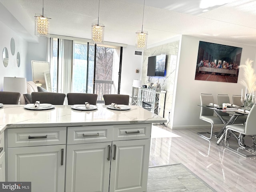
M 104 94 L 103 95 L 105 105 L 111 103 L 129 105 L 129 95 L 120 95 L 120 94 Z

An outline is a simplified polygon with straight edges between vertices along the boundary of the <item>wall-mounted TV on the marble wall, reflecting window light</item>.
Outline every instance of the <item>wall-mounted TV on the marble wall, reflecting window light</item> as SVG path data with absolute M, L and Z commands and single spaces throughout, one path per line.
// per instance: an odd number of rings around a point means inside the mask
M 147 76 L 165 76 L 166 54 L 148 57 Z

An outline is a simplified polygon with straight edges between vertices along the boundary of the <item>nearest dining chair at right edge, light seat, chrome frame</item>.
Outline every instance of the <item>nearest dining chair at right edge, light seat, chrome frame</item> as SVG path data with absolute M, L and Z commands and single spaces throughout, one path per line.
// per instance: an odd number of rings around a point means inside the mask
M 233 136 L 235 136 L 236 140 L 238 140 L 238 145 L 244 149 L 249 149 L 249 150 L 251 149 L 249 146 L 246 146 L 244 144 L 243 137 L 246 135 L 250 135 L 250 136 L 256 135 L 256 129 L 255 129 L 256 118 L 255 117 L 256 117 L 256 106 L 253 105 L 248 114 L 245 124 L 242 124 L 242 125 L 241 124 L 239 124 L 239 125 L 233 124 L 233 125 L 226 126 L 226 135 L 225 135 L 224 143 L 228 149 L 238 152 L 237 150 L 234 150 L 227 144 L 228 132 L 237 132 L 239 134 L 239 136 L 236 136 L 236 134 L 233 134 Z M 255 150 L 255 149 L 252 148 L 252 150 Z M 254 155 L 256 155 L 256 154 L 254 154 Z

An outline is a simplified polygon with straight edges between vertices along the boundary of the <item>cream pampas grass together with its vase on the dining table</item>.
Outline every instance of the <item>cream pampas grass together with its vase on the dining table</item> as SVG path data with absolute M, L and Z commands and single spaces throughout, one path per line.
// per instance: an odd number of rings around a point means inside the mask
M 244 85 L 246 90 L 250 93 L 246 96 L 245 100 L 241 99 L 242 104 L 244 104 L 244 108 L 247 109 L 252 108 L 255 102 L 254 90 L 256 90 L 256 74 L 252 68 L 252 62 L 253 61 L 248 58 L 244 65 L 239 66 L 239 68 L 244 69 L 244 79 L 241 81 L 241 84 Z

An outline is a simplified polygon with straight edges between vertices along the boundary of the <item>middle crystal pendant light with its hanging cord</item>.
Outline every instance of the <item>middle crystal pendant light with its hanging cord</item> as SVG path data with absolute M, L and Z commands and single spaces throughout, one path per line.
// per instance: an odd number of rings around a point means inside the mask
M 103 43 L 104 42 L 104 24 L 99 23 L 100 13 L 100 0 L 98 7 L 98 23 L 92 23 L 92 42 Z

